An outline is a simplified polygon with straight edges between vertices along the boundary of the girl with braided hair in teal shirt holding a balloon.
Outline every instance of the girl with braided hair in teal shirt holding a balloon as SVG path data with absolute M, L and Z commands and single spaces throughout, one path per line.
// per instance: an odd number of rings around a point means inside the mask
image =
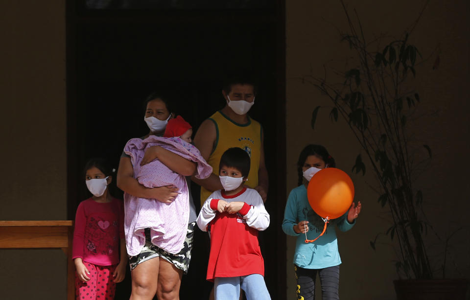
M 334 226 L 348 231 L 354 226 L 361 211 L 361 203 L 352 203 L 351 208 L 341 217 L 330 220 L 327 231 L 313 243 L 323 231 L 325 222 L 317 215 L 307 199 L 307 185 L 311 177 L 320 169 L 335 167 L 334 159 L 321 145 L 308 145 L 302 150 L 297 162 L 299 182 L 292 189 L 284 211 L 282 230 L 297 236 L 294 254 L 294 270 L 297 280 L 297 296 L 301 300 L 315 299 L 315 279 L 320 276 L 323 300 L 338 300 L 339 265 L 341 258 Z

